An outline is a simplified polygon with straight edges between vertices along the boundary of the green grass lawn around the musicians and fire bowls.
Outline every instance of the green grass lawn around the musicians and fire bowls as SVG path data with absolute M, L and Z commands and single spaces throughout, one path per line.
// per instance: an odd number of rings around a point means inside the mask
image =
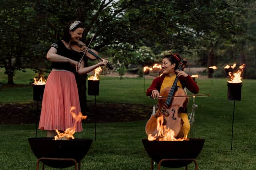
M 26 79 L 18 80 L 18 77 L 16 81 L 23 82 L 23 84 L 29 82 Z M 235 102 L 232 150 L 234 101 L 227 100 L 226 79 L 214 78 L 213 81 L 212 79 L 197 79 L 196 81 L 200 87 L 200 94 L 210 93 L 210 97 L 196 98 L 198 109 L 196 109 L 195 116 L 195 137 L 205 139 L 204 147 L 196 158 L 199 169 L 255 170 L 256 80 L 243 80 L 242 99 Z M 4 82 L 1 75 L 0 82 Z M 137 103 L 152 107 L 157 101 L 146 97 L 144 82 L 145 87 L 148 88 L 152 79 L 124 78 L 119 80 L 119 78 L 101 76 L 100 94 L 96 96 L 96 100 L 122 104 Z M 94 100 L 94 96 L 88 96 L 88 100 Z M 2 89 L 0 103 L 5 102 L 32 102 L 32 87 Z M 188 104 L 188 111 L 191 110 L 190 108 L 191 102 Z M 146 122 L 147 120 L 97 123 L 97 140 L 92 142 L 88 154 L 82 159 L 82 170 L 149 170 L 150 158 L 141 141 L 146 138 L 144 130 Z M 84 123 L 83 128 L 84 131 L 76 133 L 75 137 L 94 139 L 94 124 Z M 0 125 L 0 132 L 0 169 L 35 169 L 37 159 L 28 144 L 28 138 L 35 137 L 35 125 Z M 38 137 L 45 136 L 44 131 L 38 130 Z M 45 169 L 54 168 L 46 166 Z M 66 169 L 71 170 L 74 167 Z M 157 167 L 155 166 L 154 169 Z M 190 164 L 188 169 L 194 169 L 194 164 Z

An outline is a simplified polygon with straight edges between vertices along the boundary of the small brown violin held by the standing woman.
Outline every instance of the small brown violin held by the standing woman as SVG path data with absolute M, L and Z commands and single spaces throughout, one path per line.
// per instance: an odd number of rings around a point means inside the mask
M 72 43 L 70 45 L 70 48 L 73 51 L 76 51 L 78 53 L 82 53 L 82 55 L 84 54 L 84 52 L 87 49 L 86 45 L 82 41 L 78 41 L 78 43 Z M 98 52 L 95 51 L 94 49 L 87 49 L 86 57 L 90 60 L 100 59 L 102 61 L 102 58 L 100 56 L 98 56 Z M 107 63 L 107 68 L 108 68 L 108 70 L 113 70 L 113 67 L 111 66 L 110 63 Z

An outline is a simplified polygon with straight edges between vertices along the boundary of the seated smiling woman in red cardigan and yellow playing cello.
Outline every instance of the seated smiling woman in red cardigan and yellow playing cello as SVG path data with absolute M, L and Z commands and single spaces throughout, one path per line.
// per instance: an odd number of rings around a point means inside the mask
M 178 69 L 180 60 L 181 58 L 179 54 L 170 54 L 164 56 L 161 65 L 163 74 L 161 74 L 153 80 L 151 86 L 147 89 L 147 96 L 150 96 L 152 98 L 158 98 L 161 90 L 172 86 L 176 78 L 176 75 L 178 76 L 177 86 L 179 86 L 180 88 L 187 88 L 190 92 L 194 94 L 198 93 L 198 85 L 186 72 L 182 70 L 179 70 L 177 72 L 175 71 Z M 183 129 L 185 137 L 189 133 L 190 123 L 188 120 L 188 114 L 186 113 L 186 110 L 182 112 L 184 113 L 181 113 L 180 117 L 184 122 Z

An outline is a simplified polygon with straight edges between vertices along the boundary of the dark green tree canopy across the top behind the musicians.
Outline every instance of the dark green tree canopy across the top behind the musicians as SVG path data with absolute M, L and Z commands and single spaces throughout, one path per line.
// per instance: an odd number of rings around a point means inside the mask
M 252 3 L 240 4 L 240 1 L 230 0 L 3 1 L 0 67 L 5 67 L 9 76 L 25 67 L 38 72 L 49 69 L 46 51 L 51 43 L 62 38 L 64 26 L 71 20 L 84 23 L 82 40 L 86 44 L 95 33 L 91 47 L 113 63 L 123 62 L 126 67 L 149 64 L 151 57 L 154 60 L 154 55 L 167 49 L 191 54 L 191 49 L 209 46 L 209 42 L 202 41 L 205 39 L 216 42 L 221 37 L 233 43 L 234 35 L 240 35 L 244 27 L 248 27 L 250 41 L 253 41 L 253 20 L 242 25 L 234 19 L 239 18 L 241 9 L 247 6 L 250 9 L 243 17 L 245 20 L 252 18 L 255 7 L 250 6 Z M 143 46 L 151 48 L 150 58 L 135 52 Z M 248 45 L 252 49 L 250 56 L 255 54 L 254 46 L 254 43 Z M 203 60 L 197 61 L 207 61 L 207 56 L 200 58 Z

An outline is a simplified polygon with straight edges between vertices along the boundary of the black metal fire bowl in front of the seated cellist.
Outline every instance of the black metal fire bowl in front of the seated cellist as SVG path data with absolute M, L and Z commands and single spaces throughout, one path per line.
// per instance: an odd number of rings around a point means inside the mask
M 157 163 L 162 159 L 196 159 L 204 146 L 204 141 L 204 139 L 189 139 L 188 141 L 148 141 L 148 139 L 142 139 L 146 152 Z M 168 168 L 180 168 L 191 162 L 184 160 L 164 161 L 161 165 Z

